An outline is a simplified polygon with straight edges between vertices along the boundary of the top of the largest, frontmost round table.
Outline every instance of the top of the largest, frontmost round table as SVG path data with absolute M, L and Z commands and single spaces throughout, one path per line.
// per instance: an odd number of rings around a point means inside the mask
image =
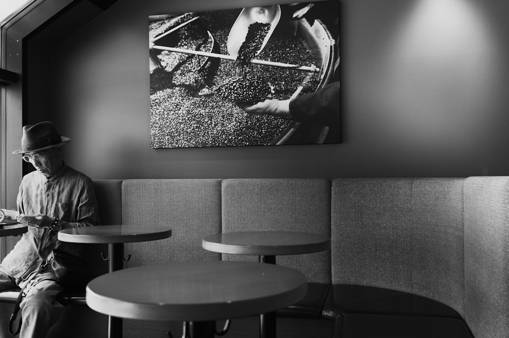
M 87 286 L 91 309 L 115 317 L 212 321 L 275 311 L 302 299 L 306 278 L 277 265 L 189 261 L 144 265 L 99 276 Z

